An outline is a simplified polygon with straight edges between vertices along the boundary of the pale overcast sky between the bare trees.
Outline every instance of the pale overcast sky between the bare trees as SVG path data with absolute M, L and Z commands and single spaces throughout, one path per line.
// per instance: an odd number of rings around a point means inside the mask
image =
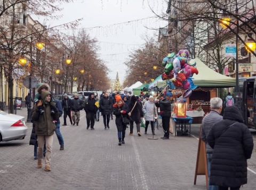
M 78 28 L 85 28 L 92 38 L 99 41 L 100 58 L 103 59 L 110 72 L 111 79 L 124 81 L 127 61 L 130 51 L 138 49 L 145 43 L 145 37 L 153 37 L 155 30 L 165 27 L 166 22 L 150 18 L 155 14 L 166 12 L 167 3 L 163 0 L 84 0 L 63 4 L 63 17 L 58 21 L 50 21 L 49 26 L 67 23 L 81 19 Z M 147 19 L 146 19 L 147 18 Z

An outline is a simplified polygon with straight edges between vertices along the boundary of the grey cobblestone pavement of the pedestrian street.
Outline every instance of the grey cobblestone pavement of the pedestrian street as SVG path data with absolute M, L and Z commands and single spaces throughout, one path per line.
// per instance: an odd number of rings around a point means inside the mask
M 27 109 L 17 111 L 27 116 Z M 61 125 L 63 118 L 61 119 Z M 25 140 L 0 143 L 0 189 L 206 189 L 205 176 L 194 185 L 199 125 L 191 126 L 191 136 L 170 136 L 162 140 L 162 128 L 155 138 L 149 130 L 142 136 L 126 130 L 125 144 L 118 146 L 117 129 L 110 120 L 104 130 L 102 116 L 95 130 L 86 130 L 85 112 L 79 126 L 61 127 L 65 150 L 60 151 L 54 135 L 52 171 L 37 169 L 34 146 L 28 145 L 31 123 Z M 255 136 L 254 136 L 255 142 Z M 241 189 L 256 189 L 256 154 L 249 160 L 248 184 Z M 43 167 L 44 168 L 44 167 Z

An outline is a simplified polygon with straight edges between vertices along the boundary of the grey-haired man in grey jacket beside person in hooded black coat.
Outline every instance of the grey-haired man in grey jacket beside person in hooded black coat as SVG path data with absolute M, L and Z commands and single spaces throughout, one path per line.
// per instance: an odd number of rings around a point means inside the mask
M 206 144 L 206 159 L 207 159 L 207 172 L 208 172 L 208 189 L 218 190 L 218 186 L 210 185 L 211 179 L 211 160 L 212 160 L 212 148 L 207 143 L 206 137 L 209 134 L 212 126 L 222 120 L 220 115 L 222 110 L 221 98 L 211 98 L 210 100 L 211 111 L 202 120 L 201 139 Z

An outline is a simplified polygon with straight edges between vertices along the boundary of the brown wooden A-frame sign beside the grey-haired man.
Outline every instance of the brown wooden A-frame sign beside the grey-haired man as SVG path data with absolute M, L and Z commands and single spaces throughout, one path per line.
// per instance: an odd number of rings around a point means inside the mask
M 205 143 L 201 139 L 201 130 L 202 130 L 202 125 L 200 127 L 200 133 L 199 133 L 194 185 L 196 185 L 196 177 L 198 175 L 205 175 L 206 189 L 208 189 L 208 172 L 207 172 L 206 149 L 205 149 Z

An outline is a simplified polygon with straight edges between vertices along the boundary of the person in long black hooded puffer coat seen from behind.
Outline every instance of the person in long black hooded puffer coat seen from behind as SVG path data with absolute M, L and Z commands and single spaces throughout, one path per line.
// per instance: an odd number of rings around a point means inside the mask
M 219 190 L 237 190 L 246 184 L 253 138 L 237 107 L 226 107 L 223 120 L 213 125 L 207 143 L 213 148 L 210 184 L 218 185 Z

